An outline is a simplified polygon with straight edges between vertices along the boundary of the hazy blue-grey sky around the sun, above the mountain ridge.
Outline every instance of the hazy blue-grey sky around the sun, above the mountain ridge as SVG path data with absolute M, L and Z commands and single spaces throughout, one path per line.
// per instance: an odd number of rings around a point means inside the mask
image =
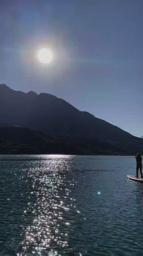
M 142 0 L 1 0 L 0 83 L 143 135 Z M 53 59 L 39 62 L 48 48 Z

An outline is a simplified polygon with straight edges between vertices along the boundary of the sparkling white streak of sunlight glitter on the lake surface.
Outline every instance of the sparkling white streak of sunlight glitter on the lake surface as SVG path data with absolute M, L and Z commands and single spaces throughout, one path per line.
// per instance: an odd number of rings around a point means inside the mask
M 46 158 L 47 156 L 45 156 Z M 68 181 L 65 172 L 70 172 L 72 156 L 62 158 L 58 155 L 50 155 L 50 161 L 43 161 L 41 168 L 37 165 L 28 171 L 28 178 L 32 179 L 32 191 L 29 193 L 35 196 L 36 201 L 33 204 L 31 196 L 26 209 L 23 212 L 23 218 L 28 221 L 29 215 L 32 216 L 32 223 L 23 227 L 23 240 L 19 247 L 17 256 L 26 255 L 60 255 L 57 249 L 53 247 L 68 247 L 69 222 L 64 221 L 63 215 L 70 210 L 66 205 L 66 198 L 70 190 L 67 189 Z M 70 181 L 70 185 L 74 185 Z M 72 199 L 71 199 L 72 200 Z M 52 248 L 52 249 L 51 249 Z

